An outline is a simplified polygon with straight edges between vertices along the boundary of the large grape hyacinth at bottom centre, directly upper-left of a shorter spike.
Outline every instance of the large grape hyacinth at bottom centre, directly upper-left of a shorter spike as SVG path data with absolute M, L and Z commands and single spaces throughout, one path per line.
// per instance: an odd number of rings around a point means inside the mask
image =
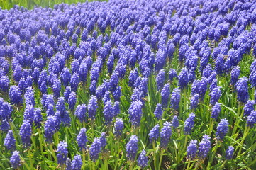
M 133 135 L 130 137 L 129 142 L 126 145 L 126 157 L 130 161 L 134 161 L 138 152 L 138 137 Z

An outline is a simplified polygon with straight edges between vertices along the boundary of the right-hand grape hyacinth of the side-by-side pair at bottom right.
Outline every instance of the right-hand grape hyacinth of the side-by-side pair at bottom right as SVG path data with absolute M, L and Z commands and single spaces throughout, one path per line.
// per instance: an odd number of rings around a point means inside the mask
M 211 139 L 211 137 L 209 137 L 208 135 L 204 135 L 203 139 L 199 143 L 198 155 L 199 155 L 199 157 L 201 157 L 201 159 L 205 159 L 207 157 L 208 152 L 211 149 L 210 139 Z

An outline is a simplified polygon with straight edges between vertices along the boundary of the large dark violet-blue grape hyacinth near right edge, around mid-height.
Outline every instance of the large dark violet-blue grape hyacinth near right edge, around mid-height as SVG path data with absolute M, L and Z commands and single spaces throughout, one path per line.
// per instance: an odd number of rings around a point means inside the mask
M 238 82 L 235 84 L 235 90 L 238 93 L 238 101 L 245 103 L 249 98 L 248 93 L 248 79 L 243 77 L 238 79 Z

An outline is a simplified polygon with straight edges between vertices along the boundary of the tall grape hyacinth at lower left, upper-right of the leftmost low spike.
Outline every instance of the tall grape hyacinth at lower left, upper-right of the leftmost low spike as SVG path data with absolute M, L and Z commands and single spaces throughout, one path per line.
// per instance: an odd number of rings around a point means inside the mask
M 21 130 L 20 130 L 20 136 L 21 136 L 21 141 L 24 147 L 30 147 L 31 134 L 32 134 L 32 128 L 31 128 L 31 124 L 29 123 L 29 120 L 23 120 L 23 124 L 21 125 Z

